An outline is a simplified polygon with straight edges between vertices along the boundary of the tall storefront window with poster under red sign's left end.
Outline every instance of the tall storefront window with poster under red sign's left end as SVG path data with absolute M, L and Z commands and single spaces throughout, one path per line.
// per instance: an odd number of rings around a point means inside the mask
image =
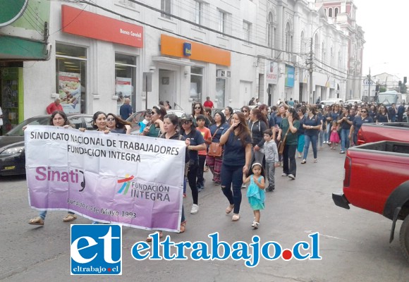
M 87 112 L 87 49 L 56 44 L 56 90 L 66 114 Z

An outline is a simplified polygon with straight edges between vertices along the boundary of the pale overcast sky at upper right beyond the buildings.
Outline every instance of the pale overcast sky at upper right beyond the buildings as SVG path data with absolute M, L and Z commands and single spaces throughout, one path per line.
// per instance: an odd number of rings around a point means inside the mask
M 362 75 L 409 76 L 409 1 L 353 0 L 365 32 Z

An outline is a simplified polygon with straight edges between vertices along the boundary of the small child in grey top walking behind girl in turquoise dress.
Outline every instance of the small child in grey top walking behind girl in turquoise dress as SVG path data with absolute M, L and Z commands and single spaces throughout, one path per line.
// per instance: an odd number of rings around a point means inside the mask
M 269 180 L 267 192 L 272 192 L 276 188 L 274 174 L 276 167 L 280 166 L 279 152 L 277 151 L 276 142 L 273 140 L 273 130 L 264 130 L 264 156 L 266 159 L 266 179 Z

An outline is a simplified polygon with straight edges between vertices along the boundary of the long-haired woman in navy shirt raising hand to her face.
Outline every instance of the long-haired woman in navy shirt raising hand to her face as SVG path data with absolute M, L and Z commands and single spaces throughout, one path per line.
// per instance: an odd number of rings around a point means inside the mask
M 233 211 L 232 221 L 240 219 L 238 213 L 241 204 L 241 185 L 243 184 L 243 173 L 248 173 L 250 166 L 251 142 L 250 130 L 244 114 L 234 113 L 230 127 L 226 128 L 220 137 L 220 144 L 224 145 L 221 190 L 229 203 L 226 214 Z

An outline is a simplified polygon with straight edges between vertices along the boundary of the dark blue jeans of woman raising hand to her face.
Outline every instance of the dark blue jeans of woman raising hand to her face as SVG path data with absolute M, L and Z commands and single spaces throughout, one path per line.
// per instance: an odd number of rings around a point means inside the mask
M 229 166 L 221 164 L 221 191 L 226 196 L 229 204 L 234 204 L 233 212 L 240 212 L 241 185 L 243 184 L 243 166 Z M 233 191 L 231 186 L 233 185 Z

